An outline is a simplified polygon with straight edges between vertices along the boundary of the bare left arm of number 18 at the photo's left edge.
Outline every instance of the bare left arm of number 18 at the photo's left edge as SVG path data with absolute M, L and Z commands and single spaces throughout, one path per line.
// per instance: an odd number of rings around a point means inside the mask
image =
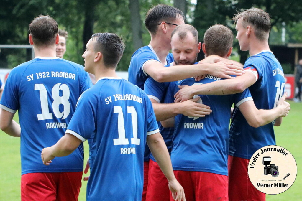
M 4 109 L 0 109 L 0 129 L 13 137 L 21 136 L 20 125 L 13 120 L 14 114 Z

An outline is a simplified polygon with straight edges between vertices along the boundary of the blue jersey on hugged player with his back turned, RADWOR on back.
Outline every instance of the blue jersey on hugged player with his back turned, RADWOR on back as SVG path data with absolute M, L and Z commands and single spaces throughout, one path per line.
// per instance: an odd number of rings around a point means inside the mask
M 179 90 L 178 85 L 201 85 L 217 81 L 206 75 L 201 81 L 188 78 L 172 82 L 168 93 L 170 102 Z M 175 116 L 171 161 L 173 170 L 204 171 L 228 175 L 227 156 L 229 148 L 230 108 L 252 100 L 249 90 L 231 95 L 199 95 L 202 103 L 211 107 L 212 113 L 205 117 Z

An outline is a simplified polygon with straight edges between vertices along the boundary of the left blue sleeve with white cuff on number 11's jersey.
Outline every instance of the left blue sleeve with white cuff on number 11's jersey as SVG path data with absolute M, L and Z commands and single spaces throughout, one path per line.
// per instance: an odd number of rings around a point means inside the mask
M 83 93 L 67 126 L 66 133 L 76 136 L 82 142 L 89 139 L 96 129 L 97 108 L 98 99 L 95 94 L 91 91 Z

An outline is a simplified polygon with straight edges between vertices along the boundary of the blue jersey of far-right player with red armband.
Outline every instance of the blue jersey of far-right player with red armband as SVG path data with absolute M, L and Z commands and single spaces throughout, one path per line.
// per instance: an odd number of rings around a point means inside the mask
M 261 52 L 249 57 L 244 69 L 256 69 L 257 81 L 249 87 L 255 106 L 270 110 L 276 107 L 284 93 L 284 73 L 272 52 Z M 232 156 L 250 159 L 261 147 L 275 145 L 274 122 L 259 128 L 249 126 L 237 107 L 234 108 L 230 127 L 230 150 Z

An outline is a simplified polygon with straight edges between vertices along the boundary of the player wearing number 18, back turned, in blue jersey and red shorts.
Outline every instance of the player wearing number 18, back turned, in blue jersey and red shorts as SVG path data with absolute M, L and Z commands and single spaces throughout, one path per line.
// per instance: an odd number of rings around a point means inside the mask
M 39 16 L 29 25 L 35 58 L 11 70 L 0 102 L 0 127 L 21 137 L 21 200 L 77 200 L 83 171 L 83 145 L 52 166 L 41 150 L 62 136 L 80 95 L 92 86 L 82 65 L 56 57 L 58 24 Z M 20 125 L 13 120 L 19 112 Z

